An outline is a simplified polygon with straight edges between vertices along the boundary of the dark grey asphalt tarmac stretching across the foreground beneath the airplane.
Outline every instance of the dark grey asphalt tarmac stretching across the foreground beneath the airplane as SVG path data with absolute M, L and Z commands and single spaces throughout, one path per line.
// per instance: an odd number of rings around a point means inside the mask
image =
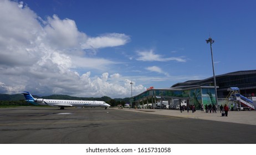
M 256 125 L 189 118 L 174 110 L 162 112 L 176 112 L 175 116 L 158 112 L 152 115 L 154 111 L 117 108 L 0 108 L 0 143 L 256 143 Z M 217 117 L 214 115 L 211 117 Z

